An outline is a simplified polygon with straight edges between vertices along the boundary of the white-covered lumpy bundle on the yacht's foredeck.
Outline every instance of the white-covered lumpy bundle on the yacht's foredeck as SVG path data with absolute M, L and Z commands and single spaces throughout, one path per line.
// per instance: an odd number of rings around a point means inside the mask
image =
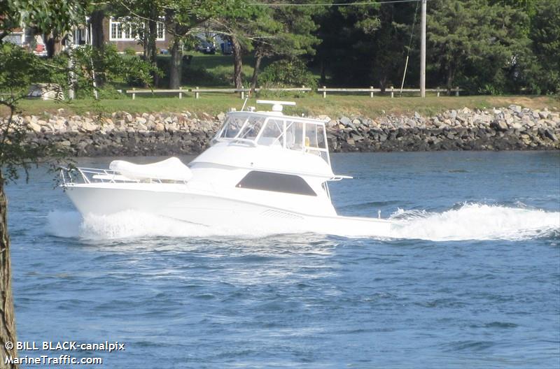
M 109 164 L 111 171 L 116 171 L 132 180 L 176 180 L 188 181 L 193 178 L 190 168 L 176 157 L 153 164 L 134 164 L 124 160 L 113 160 Z

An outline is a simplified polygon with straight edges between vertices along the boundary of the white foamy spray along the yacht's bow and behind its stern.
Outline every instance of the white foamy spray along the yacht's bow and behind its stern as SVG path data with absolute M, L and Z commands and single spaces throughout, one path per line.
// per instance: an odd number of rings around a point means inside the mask
M 560 235 L 560 212 L 500 205 L 465 203 L 444 212 L 399 209 L 389 218 L 395 222 L 393 238 L 433 241 L 458 240 L 526 240 L 557 238 Z M 260 238 L 279 233 L 309 232 L 303 228 L 232 229 L 189 224 L 175 219 L 141 212 L 84 219 L 78 212 L 53 211 L 48 214 L 47 231 L 52 236 L 85 239 L 120 239 L 149 237 L 231 237 Z M 331 229 L 335 236 L 353 237 L 348 229 Z M 360 231 L 356 237 L 363 238 Z M 375 237 L 374 234 L 371 237 Z

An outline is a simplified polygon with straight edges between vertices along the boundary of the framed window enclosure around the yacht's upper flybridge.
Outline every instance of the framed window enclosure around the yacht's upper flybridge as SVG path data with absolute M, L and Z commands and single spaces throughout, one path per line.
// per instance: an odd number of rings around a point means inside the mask
M 216 139 L 309 152 L 322 157 L 330 164 L 323 122 L 300 121 L 294 117 L 234 113 L 228 115 Z

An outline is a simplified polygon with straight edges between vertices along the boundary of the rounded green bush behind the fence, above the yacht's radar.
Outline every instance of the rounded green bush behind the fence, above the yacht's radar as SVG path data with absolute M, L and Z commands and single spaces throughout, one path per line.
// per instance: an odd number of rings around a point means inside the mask
M 317 81 L 299 59 L 274 61 L 262 71 L 264 87 L 316 87 Z

